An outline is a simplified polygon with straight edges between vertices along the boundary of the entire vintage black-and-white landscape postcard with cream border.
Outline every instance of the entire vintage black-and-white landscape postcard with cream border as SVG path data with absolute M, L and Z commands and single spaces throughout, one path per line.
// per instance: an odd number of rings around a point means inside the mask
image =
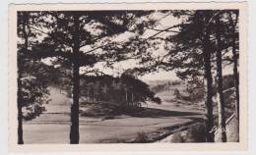
M 246 2 L 9 6 L 10 152 L 246 149 Z

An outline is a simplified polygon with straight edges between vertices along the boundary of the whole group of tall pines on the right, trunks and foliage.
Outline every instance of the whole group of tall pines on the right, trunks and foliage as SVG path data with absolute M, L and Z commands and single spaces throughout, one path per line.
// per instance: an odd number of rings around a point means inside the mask
M 152 42 L 165 41 L 164 56 L 151 61 L 142 61 L 146 67 L 136 72 L 156 70 L 174 70 L 179 78 L 204 80 L 207 141 L 215 140 L 213 97 L 214 79 L 217 84 L 219 102 L 219 126 L 222 128 L 222 140 L 226 141 L 224 118 L 224 79 L 223 67 L 233 66 L 233 81 L 236 96 L 235 114 L 239 119 L 239 79 L 238 79 L 238 10 L 182 10 L 163 11 L 174 17 L 183 19 L 181 24 L 165 29 L 157 29 L 159 33 L 169 32 L 167 37 L 151 38 Z M 154 28 L 154 27 L 153 27 Z M 177 29 L 178 28 L 178 29 Z M 147 55 L 151 57 L 149 54 Z M 151 70 L 149 70 L 151 69 Z M 215 76 L 215 78 L 213 78 Z M 239 128 L 239 125 L 237 126 Z

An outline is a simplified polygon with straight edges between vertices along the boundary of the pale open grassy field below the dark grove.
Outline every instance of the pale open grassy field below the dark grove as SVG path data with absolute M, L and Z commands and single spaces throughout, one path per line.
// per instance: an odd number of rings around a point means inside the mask
M 25 143 L 69 143 L 71 100 L 57 88 L 51 87 L 50 94 L 52 100 L 46 105 L 47 111 L 25 122 Z M 140 132 L 156 133 L 194 122 L 204 113 L 168 102 L 161 105 L 149 103 L 145 109 L 138 114 L 119 115 L 111 119 L 80 116 L 80 142 L 125 142 L 136 138 Z

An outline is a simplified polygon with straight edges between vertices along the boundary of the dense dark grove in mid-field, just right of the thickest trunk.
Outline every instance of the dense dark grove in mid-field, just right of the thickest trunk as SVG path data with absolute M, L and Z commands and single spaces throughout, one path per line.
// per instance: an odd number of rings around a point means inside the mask
M 160 104 L 160 98 L 155 96 L 147 83 L 128 74 L 122 74 L 120 78 L 106 75 L 84 77 L 81 80 L 81 96 L 128 108 L 141 106 L 146 101 Z

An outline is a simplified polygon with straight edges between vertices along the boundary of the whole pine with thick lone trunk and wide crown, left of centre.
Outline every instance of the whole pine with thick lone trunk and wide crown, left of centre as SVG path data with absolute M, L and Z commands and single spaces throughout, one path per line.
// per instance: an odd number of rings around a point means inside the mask
M 71 107 L 70 143 L 79 143 L 80 68 L 93 67 L 97 62 L 107 62 L 109 65 L 128 59 L 129 50 L 127 49 L 133 46 L 132 39 L 126 42 L 116 42 L 111 41 L 111 37 L 125 31 L 139 33 L 140 27 L 144 23 L 138 24 L 137 19 L 149 15 L 151 12 L 42 12 L 43 16 L 37 19 L 37 23 L 48 31 L 32 27 L 47 34 L 42 43 L 33 47 L 33 57 L 56 57 L 60 62 L 72 66 L 73 104 Z M 94 30 L 98 30 L 98 32 Z M 83 50 L 83 47 L 86 46 L 90 46 L 91 49 Z

